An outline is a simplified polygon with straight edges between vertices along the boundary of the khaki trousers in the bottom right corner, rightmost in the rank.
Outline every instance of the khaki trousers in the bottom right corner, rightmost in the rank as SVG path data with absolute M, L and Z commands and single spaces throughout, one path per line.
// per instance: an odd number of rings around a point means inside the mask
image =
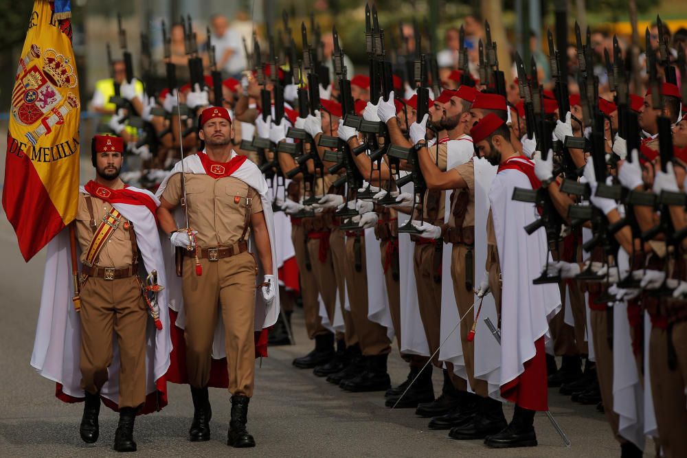
M 675 323 L 672 343 L 677 368 L 668 367 L 668 332 L 651 328 L 649 370 L 658 437 L 666 458 L 687 457 L 687 321 Z

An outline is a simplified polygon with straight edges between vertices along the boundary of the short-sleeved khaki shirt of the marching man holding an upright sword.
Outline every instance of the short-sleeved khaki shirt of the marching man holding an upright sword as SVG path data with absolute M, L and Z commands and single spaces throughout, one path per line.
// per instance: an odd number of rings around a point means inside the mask
M 172 205 L 180 205 L 182 194 L 181 174 L 177 173 L 170 177 L 162 197 Z M 248 197 L 252 198 L 250 208 L 247 208 Z M 233 176 L 214 179 L 205 174 L 186 174 L 186 203 L 188 224 L 198 231 L 196 243 L 205 248 L 236 244 L 246 224 L 246 212 L 262 211 L 260 194 Z M 246 240 L 249 233 L 250 226 Z

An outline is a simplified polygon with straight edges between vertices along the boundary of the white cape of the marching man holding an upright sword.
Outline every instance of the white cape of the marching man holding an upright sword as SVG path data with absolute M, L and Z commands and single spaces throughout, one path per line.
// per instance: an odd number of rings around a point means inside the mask
M 237 155 L 238 154 L 236 154 L 236 152 L 232 150 L 232 156 L 230 159 L 233 159 Z M 170 179 L 170 176 L 176 173 L 181 173 L 181 170 L 182 164 L 181 161 L 179 161 L 176 165 L 174 165 L 174 168 L 172 168 L 170 174 L 166 176 L 166 178 L 160 184 L 156 196 L 159 197 L 162 195 L 162 193 L 167 187 L 167 182 Z M 205 174 L 205 169 L 203 168 L 203 164 L 201 163 L 201 159 L 198 157 L 198 154 L 192 154 L 191 156 L 185 157 L 183 159 L 183 172 L 187 174 Z M 272 202 L 268 194 L 269 188 L 267 187 L 267 181 L 265 181 L 264 176 L 262 176 L 262 174 L 260 173 L 258 166 L 251 162 L 249 159 L 246 159 L 246 161 L 231 176 L 233 176 L 236 179 L 240 179 L 241 181 L 252 187 L 254 190 L 256 190 L 258 194 L 260 194 L 260 201 L 262 202 L 262 211 L 264 212 L 264 219 L 267 223 L 267 233 L 269 234 L 269 242 L 271 246 L 273 274 L 275 275 L 275 277 L 277 277 L 277 243 L 274 231 Z M 177 227 L 184 227 L 185 222 L 182 218 L 181 209 L 178 208 L 177 210 L 178 211 L 174 214 L 174 217 L 177 220 Z M 161 238 L 163 238 L 162 247 L 165 251 L 166 259 L 169 260 L 169 262 L 166 263 L 166 267 L 169 284 L 170 308 L 178 314 L 177 321 L 174 324 L 177 325 L 179 328 L 183 329 L 185 326 L 185 314 L 183 312 L 183 296 L 181 294 L 182 281 L 180 277 L 177 277 L 177 274 L 175 272 L 174 252 L 172 251 L 171 245 L 169 242 L 166 242 L 164 240 L 166 239 L 166 236 L 161 234 Z M 253 252 L 254 250 L 254 240 L 251 235 L 249 251 Z M 260 275 L 262 275 L 262 268 L 260 268 L 260 273 L 258 273 L 258 279 L 260 279 Z M 277 294 L 275 296 L 274 301 L 271 304 L 265 304 L 264 299 L 262 299 L 262 295 L 260 294 L 260 291 L 256 290 L 256 292 L 257 294 L 255 330 L 260 331 L 263 328 L 269 328 L 269 326 L 277 322 L 277 318 L 279 316 L 279 295 Z M 217 322 L 217 328 L 214 334 L 214 340 L 212 342 L 212 358 L 221 359 L 225 358 L 225 356 L 227 356 L 227 354 L 225 350 L 224 322 L 222 320 L 222 315 L 220 314 Z

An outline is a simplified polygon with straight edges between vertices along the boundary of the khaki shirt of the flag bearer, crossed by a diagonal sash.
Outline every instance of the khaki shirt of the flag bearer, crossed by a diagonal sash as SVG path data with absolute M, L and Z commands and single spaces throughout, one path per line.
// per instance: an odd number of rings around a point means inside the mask
M 93 219 L 95 227 L 100 227 L 102 218 L 112 208 L 109 203 L 100 200 L 95 196 L 89 196 L 82 192 L 79 193 L 78 210 L 76 211 L 76 238 L 81 247 L 81 262 L 86 260 L 86 251 L 93 240 L 93 229 L 91 229 L 91 215 L 86 204 L 87 199 L 91 199 L 93 204 Z M 126 223 L 126 224 L 125 224 Z M 95 260 L 96 266 L 101 267 L 126 267 L 131 266 L 133 253 L 131 251 L 131 236 L 128 229 L 129 222 L 124 216 L 120 219 L 120 224 L 114 233 L 105 242 L 105 246 L 100 251 L 98 259 Z M 96 229 L 97 231 L 97 229 Z

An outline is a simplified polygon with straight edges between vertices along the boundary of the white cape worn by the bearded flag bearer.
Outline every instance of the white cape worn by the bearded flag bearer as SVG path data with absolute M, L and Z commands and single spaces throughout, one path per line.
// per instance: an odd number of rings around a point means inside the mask
M 142 192 L 159 205 L 152 193 L 136 187 L 129 191 Z M 85 192 L 84 188 L 80 192 Z M 155 216 L 144 205 L 115 203 L 112 205 L 133 222 L 136 241 L 141 251 L 146 272 L 157 271 L 158 283 L 166 286 L 164 258 L 157 237 Z M 79 263 L 79 268 L 81 268 Z M 148 319 L 146 329 L 146 394 L 156 390 L 156 382 L 167 373 L 170 366 L 170 322 L 167 308 L 167 289 L 157 295 L 162 330 L 155 329 L 153 319 Z M 71 275 L 69 230 L 60 232 L 47 245 L 45 279 L 41 295 L 41 308 L 36 323 L 36 339 L 31 355 L 31 365 L 38 374 L 62 384 L 63 392 L 74 398 L 83 398 L 81 388 L 80 348 L 81 322 L 74 310 L 71 297 L 74 296 L 74 282 Z M 113 358 L 107 369 L 108 380 L 100 391 L 101 396 L 115 404 L 119 402 L 120 356 L 117 337 L 113 335 Z

